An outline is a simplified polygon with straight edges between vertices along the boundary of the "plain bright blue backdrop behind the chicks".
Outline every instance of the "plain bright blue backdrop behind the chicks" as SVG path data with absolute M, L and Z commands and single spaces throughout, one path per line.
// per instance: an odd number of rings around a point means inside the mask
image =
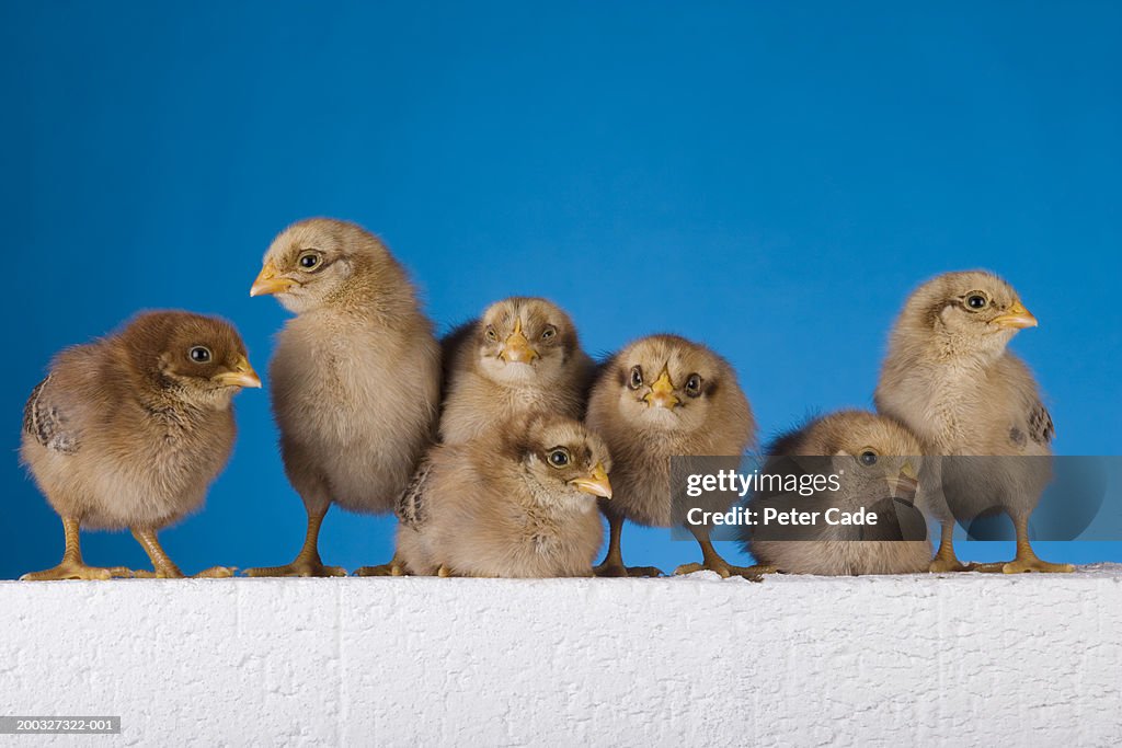
M 380 233 L 442 331 L 539 294 L 594 353 L 707 341 L 764 436 L 868 405 L 909 289 L 991 268 L 1041 321 L 1014 348 L 1057 451 L 1119 453 L 1122 6 L 733 6 L 4 2 L 0 578 L 62 550 L 16 456 L 50 355 L 184 307 L 234 321 L 264 370 L 286 315 L 249 285 L 316 214 Z M 302 538 L 267 397 L 237 408 L 205 510 L 163 536 L 188 572 L 286 562 Z M 127 533 L 84 542 L 147 565 Z M 635 564 L 698 555 L 666 530 L 624 543 Z M 390 544 L 390 520 L 337 509 L 321 548 L 355 567 Z

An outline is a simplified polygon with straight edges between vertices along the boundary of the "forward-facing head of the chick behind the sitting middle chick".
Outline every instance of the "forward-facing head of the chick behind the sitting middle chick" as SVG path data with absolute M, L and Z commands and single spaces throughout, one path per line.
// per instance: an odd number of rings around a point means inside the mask
M 484 311 L 477 345 L 480 370 L 506 385 L 557 381 L 580 349 L 577 327 L 558 305 L 517 296 Z

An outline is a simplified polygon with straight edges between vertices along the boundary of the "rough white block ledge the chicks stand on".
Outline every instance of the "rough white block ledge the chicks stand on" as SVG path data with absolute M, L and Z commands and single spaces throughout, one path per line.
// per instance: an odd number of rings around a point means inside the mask
M 59 744 L 1122 742 L 1120 565 L 4 582 L 0 635 L 0 714 L 123 718 Z

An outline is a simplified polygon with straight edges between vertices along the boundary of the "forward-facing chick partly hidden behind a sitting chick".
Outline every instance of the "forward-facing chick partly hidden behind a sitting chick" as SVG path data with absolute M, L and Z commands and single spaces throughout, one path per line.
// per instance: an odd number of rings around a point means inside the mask
M 572 320 L 544 298 L 491 304 L 445 338 L 444 359 L 445 444 L 533 413 L 580 418 L 594 370 Z

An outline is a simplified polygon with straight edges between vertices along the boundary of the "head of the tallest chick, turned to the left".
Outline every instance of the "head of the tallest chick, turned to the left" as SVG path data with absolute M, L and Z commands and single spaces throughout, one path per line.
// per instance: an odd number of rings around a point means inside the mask
M 273 240 L 250 296 L 275 295 L 297 314 L 368 297 L 389 251 L 358 224 L 307 219 Z

